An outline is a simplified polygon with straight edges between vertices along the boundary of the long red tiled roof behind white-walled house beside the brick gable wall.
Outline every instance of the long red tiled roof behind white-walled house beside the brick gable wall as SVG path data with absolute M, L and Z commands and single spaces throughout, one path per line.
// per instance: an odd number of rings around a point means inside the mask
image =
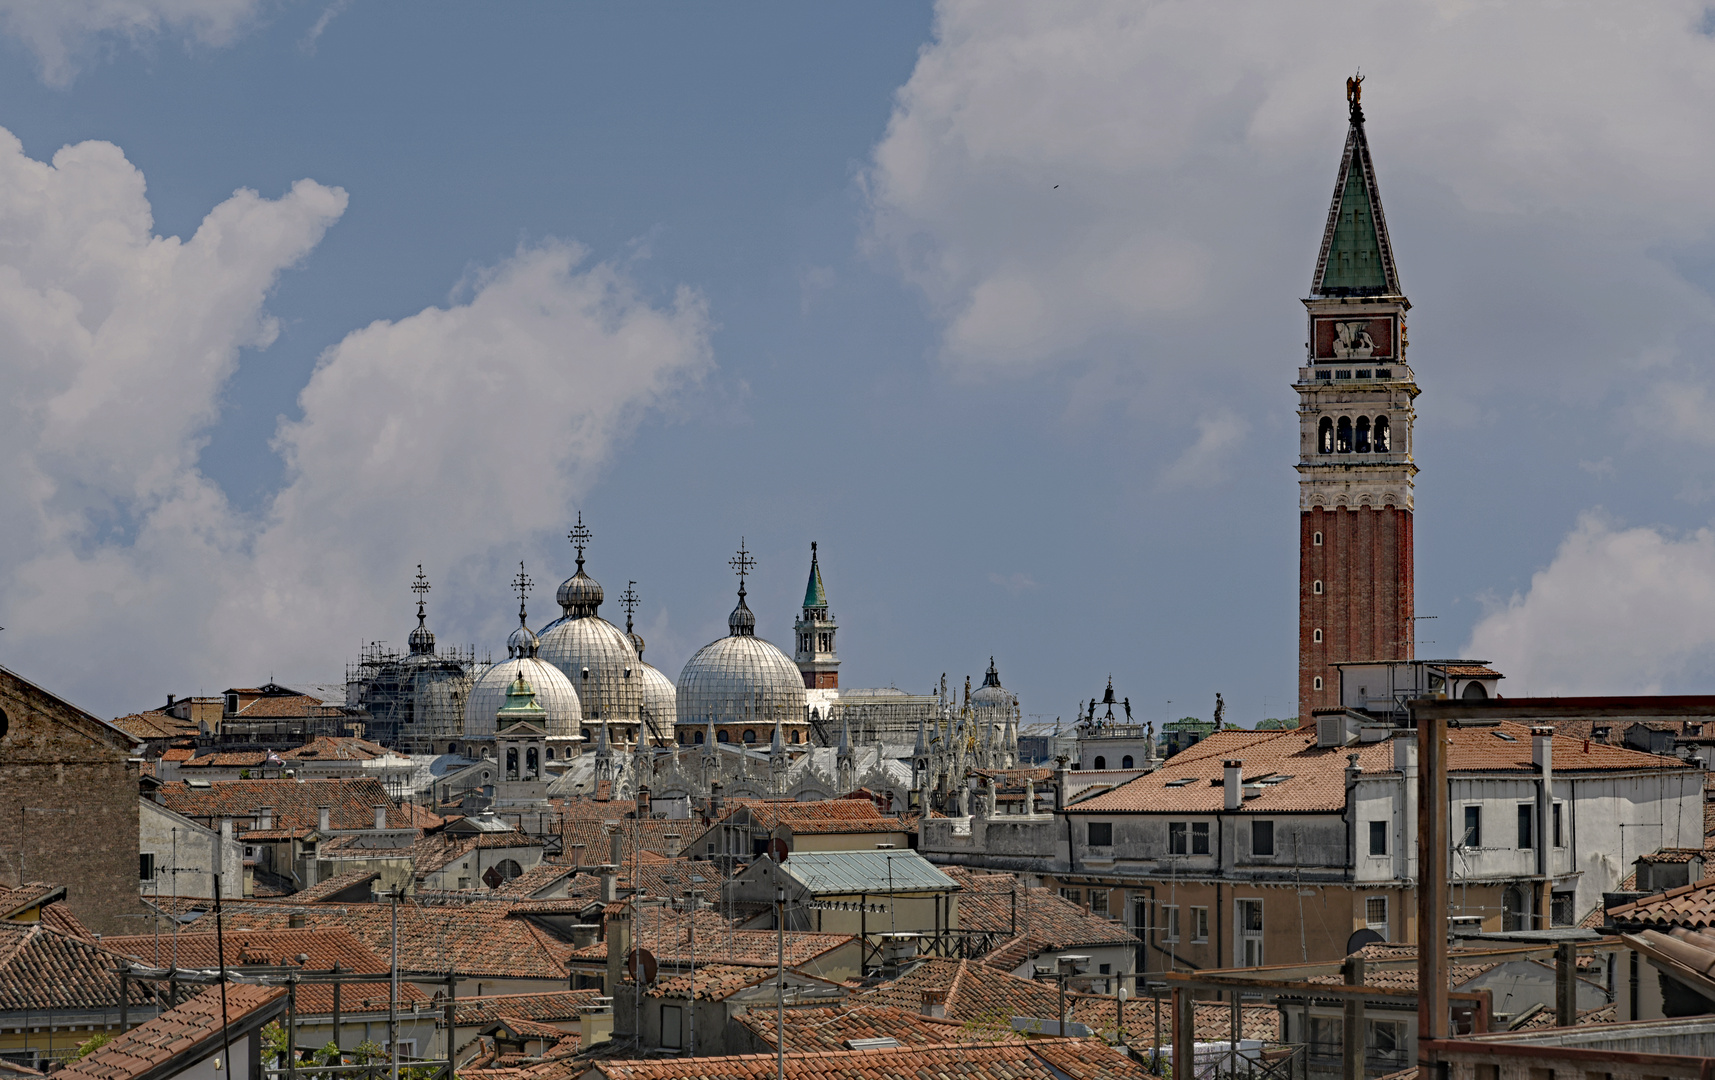
M 336 830 L 374 828 L 376 806 L 386 804 L 388 828 L 420 828 L 418 814 L 398 806 L 374 777 L 338 780 L 216 780 L 209 787 L 184 782 L 163 783 L 161 802 L 187 818 L 256 818 L 264 806 L 274 807 L 276 830 L 316 828 L 319 806 L 331 806 L 329 825 Z

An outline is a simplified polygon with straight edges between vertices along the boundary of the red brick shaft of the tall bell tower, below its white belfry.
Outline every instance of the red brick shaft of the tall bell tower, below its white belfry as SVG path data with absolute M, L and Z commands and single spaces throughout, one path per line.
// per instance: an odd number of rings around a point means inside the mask
M 1315 535 L 1322 543 L 1315 543 Z M 1322 583 L 1321 595 L 1315 583 Z M 1413 651 L 1411 511 L 1322 509 L 1298 514 L 1298 722 L 1339 705 L 1343 660 L 1410 660 Z M 1315 639 L 1322 631 L 1322 639 Z M 1315 689 L 1321 675 L 1322 689 Z

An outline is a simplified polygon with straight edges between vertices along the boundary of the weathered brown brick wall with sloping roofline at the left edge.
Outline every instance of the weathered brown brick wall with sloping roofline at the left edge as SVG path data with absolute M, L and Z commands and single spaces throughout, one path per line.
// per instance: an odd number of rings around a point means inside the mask
M 0 881 L 17 885 L 22 859 L 22 878 L 63 885 L 89 929 L 137 933 L 120 917 L 142 910 L 132 741 L 5 669 L 0 713 Z

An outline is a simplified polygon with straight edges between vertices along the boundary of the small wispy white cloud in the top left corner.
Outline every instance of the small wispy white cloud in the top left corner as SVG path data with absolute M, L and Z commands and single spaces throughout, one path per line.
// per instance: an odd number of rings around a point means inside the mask
M 0 0 L 0 29 L 22 43 L 41 77 L 63 86 L 79 62 L 110 41 L 132 45 L 159 38 L 221 46 L 238 36 L 259 0 Z

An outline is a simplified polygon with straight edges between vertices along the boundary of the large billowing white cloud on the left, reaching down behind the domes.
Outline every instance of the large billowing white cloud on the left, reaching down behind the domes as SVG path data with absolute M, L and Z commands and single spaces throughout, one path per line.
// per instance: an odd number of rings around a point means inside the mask
M 0 662 L 106 711 L 336 675 L 405 566 L 539 550 L 640 411 L 710 363 L 695 293 L 657 303 L 578 245 L 523 247 L 466 298 L 328 348 L 278 427 L 280 490 L 237 513 L 197 468 L 204 432 L 276 334 L 271 285 L 345 204 L 310 180 L 240 190 L 158 237 L 118 147 L 41 163 L 0 132 Z

